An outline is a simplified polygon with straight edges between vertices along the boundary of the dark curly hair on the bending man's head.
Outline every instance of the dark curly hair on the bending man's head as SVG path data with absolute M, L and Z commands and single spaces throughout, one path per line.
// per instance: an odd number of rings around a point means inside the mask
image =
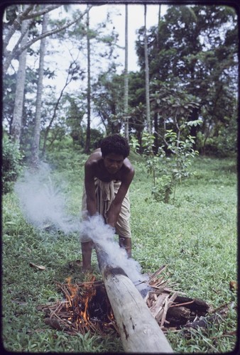
M 124 158 L 129 156 L 130 147 L 126 138 L 120 136 L 119 134 L 113 134 L 103 138 L 100 142 L 100 148 L 102 151 L 102 156 L 106 156 L 109 153 L 115 153 L 119 155 L 124 155 Z

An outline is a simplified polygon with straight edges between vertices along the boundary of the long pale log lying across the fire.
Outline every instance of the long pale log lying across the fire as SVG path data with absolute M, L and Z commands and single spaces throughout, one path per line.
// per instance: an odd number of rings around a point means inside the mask
M 168 339 L 124 270 L 109 265 L 101 246 L 95 244 L 95 249 L 124 351 L 173 353 Z

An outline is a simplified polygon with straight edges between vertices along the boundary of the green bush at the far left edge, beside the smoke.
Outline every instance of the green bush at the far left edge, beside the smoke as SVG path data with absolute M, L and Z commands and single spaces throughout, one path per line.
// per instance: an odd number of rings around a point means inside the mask
M 15 182 L 21 173 L 23 154 L 19 151 L 16 143 L 4 136 L 2 143 L 1 181 L 4 193 L 13 190 Z

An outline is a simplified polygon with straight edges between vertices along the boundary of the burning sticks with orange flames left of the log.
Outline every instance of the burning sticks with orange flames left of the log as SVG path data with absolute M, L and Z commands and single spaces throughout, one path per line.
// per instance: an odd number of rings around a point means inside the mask
M 46 324 L 70 334 L 118 332 L 104 283 L 95 281 L 93 276 L 85 283 L 70 283 L 68 278 L 67 283 L 56 284 L 65 300 L 42 307 L 47 316 Z

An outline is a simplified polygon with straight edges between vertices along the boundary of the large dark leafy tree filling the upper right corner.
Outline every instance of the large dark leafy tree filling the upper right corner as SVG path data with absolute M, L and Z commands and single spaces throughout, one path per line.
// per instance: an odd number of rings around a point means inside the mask
M 188 120 L 202 119 L 202 126 L 192 126 L 190 132 L 197 136 L 199 148 L 205 142 L 200 133 L 217 138 L 229 116 L 236 117 L 236 28 L 236 12 L 227 6 L 170 6 L 158 26 L 148 31 L 151 94 L 153 83 L 158 82 L 158 91 L 169 84 L 176 93 L 180 89 L 197 97 L 199 107 L 192 109 Z M 144 39 L 141 28 L 137 41 L 141 71 L 145 67 Z M 155 109 L 159 130 L 163 116 L 158 115 L 159 105 Z

